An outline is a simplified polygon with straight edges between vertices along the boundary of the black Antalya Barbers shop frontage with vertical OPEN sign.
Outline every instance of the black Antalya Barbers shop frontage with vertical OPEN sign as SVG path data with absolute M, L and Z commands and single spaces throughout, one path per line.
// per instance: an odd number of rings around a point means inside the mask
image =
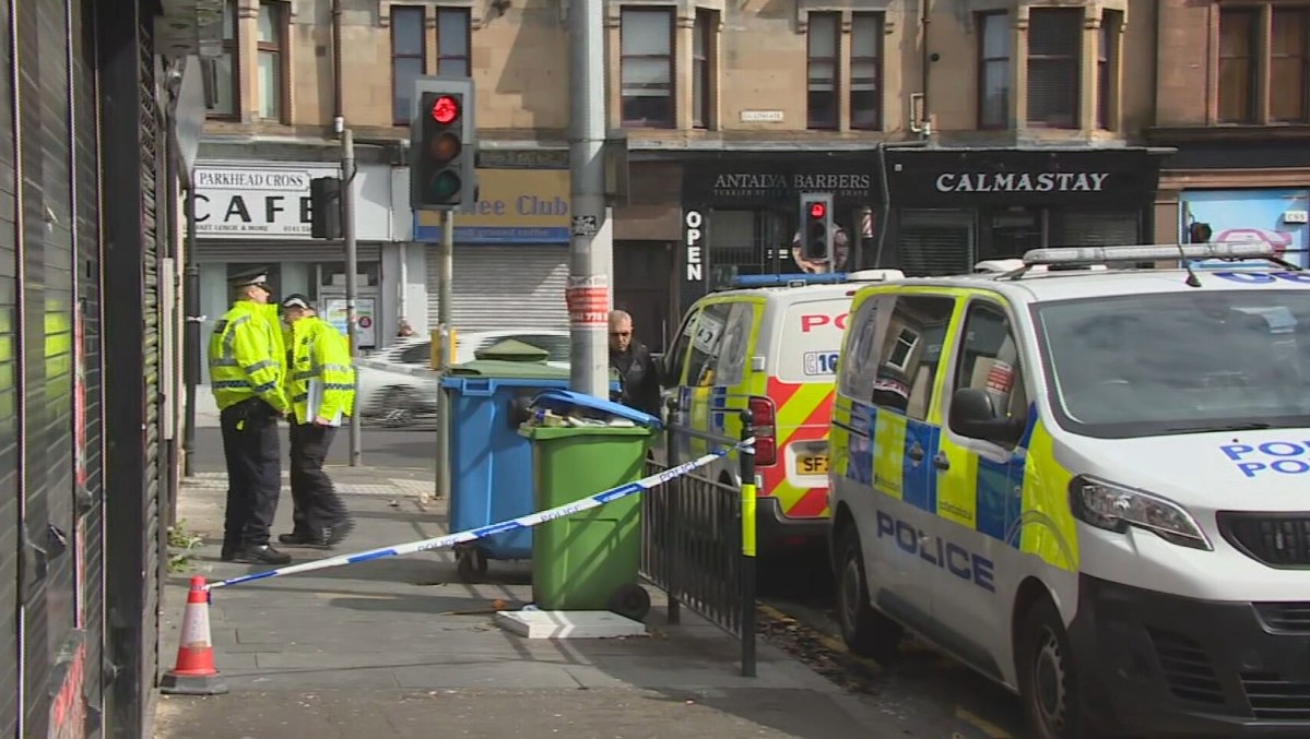
M 806 271 L 793 242 L 800 195 L 831 192 L 838 260 L 858 264 L 874 233 L 880 201 L 876 154 L 858 152 L 713 153 L 683 162 L 680 302 L 685 309 L 715 275 Z M 842 249 L 845 243 L 845 249 Z M 867 258 L 865 258 L 867 260 Z

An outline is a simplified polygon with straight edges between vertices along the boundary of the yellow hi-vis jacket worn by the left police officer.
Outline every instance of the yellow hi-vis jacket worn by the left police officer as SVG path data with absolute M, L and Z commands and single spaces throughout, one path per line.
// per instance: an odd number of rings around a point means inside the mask
M 210 383 L 219 409 L 262 398 L 278 412 L 291 409 L 283 391 L 286 348 L 278 306 L 237 301 L 210 336 Z

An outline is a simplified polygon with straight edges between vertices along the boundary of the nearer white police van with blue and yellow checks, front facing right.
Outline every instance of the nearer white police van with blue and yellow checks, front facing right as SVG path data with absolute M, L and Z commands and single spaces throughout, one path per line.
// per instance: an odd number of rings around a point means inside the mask
M 853 650 L 908 628 L 1040 739 L 1310 736 L 1310 272 L 1248 243 L 1044 249 L 850 311 Z

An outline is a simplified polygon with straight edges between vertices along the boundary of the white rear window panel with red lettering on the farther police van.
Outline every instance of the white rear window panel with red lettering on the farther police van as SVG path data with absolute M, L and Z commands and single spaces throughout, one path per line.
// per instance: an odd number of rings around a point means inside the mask
M 850 298 L 824 298 L 787 306 L 777 347 L 778 379 L 783 382 L 833 382 L 837 353 L 846 327 Z

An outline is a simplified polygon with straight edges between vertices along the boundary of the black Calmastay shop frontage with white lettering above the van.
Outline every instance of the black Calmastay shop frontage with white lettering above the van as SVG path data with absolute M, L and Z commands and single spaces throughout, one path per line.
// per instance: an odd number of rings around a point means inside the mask
M 862 264 L 958 275 L 1030 249 L 1149 243 L 1171 152 L 887 148 L 888 217 Z

